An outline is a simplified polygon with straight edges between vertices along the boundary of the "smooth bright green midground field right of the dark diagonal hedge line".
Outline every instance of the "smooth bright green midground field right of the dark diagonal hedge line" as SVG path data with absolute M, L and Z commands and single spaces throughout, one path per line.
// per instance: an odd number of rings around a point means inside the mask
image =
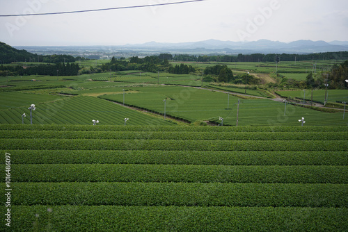
M 137 91 L 125 94 L 125 104 L 145 108 L 164 114 L 166 99 L 166 115 L 187 120 L 188 122 L 207 121 L 235 126 L 237 122 L 237 97 L 221 92 L 192 89 L 187 87 L 143 87 L 129 88 Z M 248 91 L 248 90 L 247 90 Z M 107 94 L 102 99 L 123 102 L 123 94 Z M 306 118 L 306 126 L 345 126 L 347 117 L 342 113 L 324 113 L 308 108 L 301 108 L 269 99 L 242 99 L 239 104 L 239 126 L 296 126 L 298 119 Z

